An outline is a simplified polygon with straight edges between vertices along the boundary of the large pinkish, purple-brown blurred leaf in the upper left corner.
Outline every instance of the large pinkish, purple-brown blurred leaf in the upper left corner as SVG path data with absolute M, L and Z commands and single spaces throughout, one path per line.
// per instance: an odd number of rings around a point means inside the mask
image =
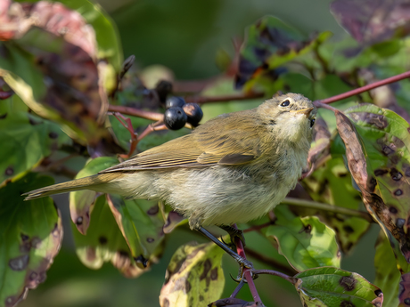
M 78 141 L 115 143 L 104 127 L 105 88 L 117 79 L 110 64 L 97 61 L 94 29 L 59 3 L 5 4 L 0 76 L 30 109 L 59 121 Z M 21 23 L 27 27 L 15 27 Z M 17 30 L 10 36 L 8 28 Z

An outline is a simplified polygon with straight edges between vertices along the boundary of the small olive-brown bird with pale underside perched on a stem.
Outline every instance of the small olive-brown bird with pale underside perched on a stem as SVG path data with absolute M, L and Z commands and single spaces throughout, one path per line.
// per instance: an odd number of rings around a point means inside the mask
M 276 96 L 256 109 L 210 119 L 99 174 L 32 190 L 26 199 L 94 190 L 163 200 L 202 233 L 206 225 L 248 222 L 272 210 L 297 184 L 316 112 L 301 94 Z

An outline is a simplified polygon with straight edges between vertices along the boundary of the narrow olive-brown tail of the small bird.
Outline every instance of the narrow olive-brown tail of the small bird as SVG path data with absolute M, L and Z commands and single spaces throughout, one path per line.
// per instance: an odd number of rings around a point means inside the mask
M 27 198 L 25 198 L 25 200 L 30 200 L 35 198 L 43 198 L 45 196 L 53 194 L 66 193 L 74 190 L 103 191 L 104 185 L 118 178 L 118 173 L 94 174 L 92 176 L 75 179 L 70 182 L 57 183 L 45 188 L 31 190 L 22 195 L 27 195 Z

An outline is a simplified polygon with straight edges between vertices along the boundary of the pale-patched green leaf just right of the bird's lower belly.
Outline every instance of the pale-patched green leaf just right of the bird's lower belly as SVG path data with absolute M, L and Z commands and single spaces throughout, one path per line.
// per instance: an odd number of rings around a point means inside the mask
M 318 266 L 340 266 L 340 252 L 332 229 L 316 216 L 294 217 L 277 206 L 275 225 L 266 228 L 266 237 L 275 238 L 279 253 L 296 271 Z

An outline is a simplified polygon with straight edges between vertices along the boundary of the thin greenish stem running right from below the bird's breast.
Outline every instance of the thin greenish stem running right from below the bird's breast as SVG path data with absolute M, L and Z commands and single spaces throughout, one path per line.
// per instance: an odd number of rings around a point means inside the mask
M 332 212 L 335 214 L 346 214 L 350 216 L 357 216 L 357 217 L 361 217 L 362 219 L 365 219 L 367 222 L 374 222 L 372 216 L 364 211 L 348 209 L 342 206 L 327 205 L 327 204 L 319 203 L 313 200 L 306 200 L 306 199 L 300 199 L 300 198 L 284 198 L 281 204 L 292 205 L 292 206 L 305 206 L 307 208 L 324 210 L 324 211 Z

